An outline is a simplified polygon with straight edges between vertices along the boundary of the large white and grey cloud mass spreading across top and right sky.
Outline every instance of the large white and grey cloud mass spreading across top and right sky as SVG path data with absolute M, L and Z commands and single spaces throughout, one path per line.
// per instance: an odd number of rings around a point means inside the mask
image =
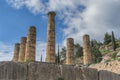
M 63 24 L 64 41 L 73 37 L 75 43 L 82 43 L 82 36 L 89 34 L 91 38 L 103 40 L 105 32 L 120 30 L 120 0 L 7 0 L 14 8 L 26 7 L 32 13 L 57 12 Z M 81 7 L 80 7 L 81 6 Z

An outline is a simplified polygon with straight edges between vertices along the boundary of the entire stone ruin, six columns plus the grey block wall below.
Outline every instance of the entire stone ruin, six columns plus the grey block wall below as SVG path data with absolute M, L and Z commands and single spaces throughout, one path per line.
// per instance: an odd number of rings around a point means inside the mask
M 15 44 L 12 61 L 0 62 L 0 80 L 120 80 L 119 74 L 75 65 L 73 38 L 67 38 L 66 65 L 55 64 L 55 15 L 53 11 L 48 13 L 46 62 L 42 62 L 42 58 L 41 62 L 35 61 L 36 27 L 30 26 L 27 37 Z M 87 34 L 83 36 L 83 53 L 84 65 L 91 64 Z

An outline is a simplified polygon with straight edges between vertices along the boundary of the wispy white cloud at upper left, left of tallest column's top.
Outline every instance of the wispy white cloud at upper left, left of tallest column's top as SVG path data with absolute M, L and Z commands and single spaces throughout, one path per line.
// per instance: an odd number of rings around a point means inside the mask
M 6 2 L 15 9 L 26 7 L 34 14 L 46 11 L 45 5 L 43 5 L 41 0 L 6 0 Z

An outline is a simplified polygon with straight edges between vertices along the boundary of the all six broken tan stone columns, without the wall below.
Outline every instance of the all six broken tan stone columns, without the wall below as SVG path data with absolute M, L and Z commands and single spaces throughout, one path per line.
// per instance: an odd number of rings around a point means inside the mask
M 55 52 L 55 15 L 51 11 L 48 13 L 48 30 L 47 30 L 47 45 L 46 45 L 46 62 L 56 62 Z M 83 62 L 85 65 L 92 63 L 92 54 L 89 35 L 83 36 Z M 36 28 L 31 26 L 28 30 L 28 35 L 21 38 L 21 43 L 16 44 L 14 50 L 13 61 L 26 62 L 35 61 L 36 55 Z M 66 64 L 74 65 L 74 39 L 68 38 L 66 44 Z

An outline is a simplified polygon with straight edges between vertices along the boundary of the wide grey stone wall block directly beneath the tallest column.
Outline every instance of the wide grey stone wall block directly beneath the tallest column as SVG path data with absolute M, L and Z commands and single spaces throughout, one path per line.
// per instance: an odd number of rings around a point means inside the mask
M 28 68 L 29 80 L 58 80 L 59 67 L 55 64 L 30 63 Z

